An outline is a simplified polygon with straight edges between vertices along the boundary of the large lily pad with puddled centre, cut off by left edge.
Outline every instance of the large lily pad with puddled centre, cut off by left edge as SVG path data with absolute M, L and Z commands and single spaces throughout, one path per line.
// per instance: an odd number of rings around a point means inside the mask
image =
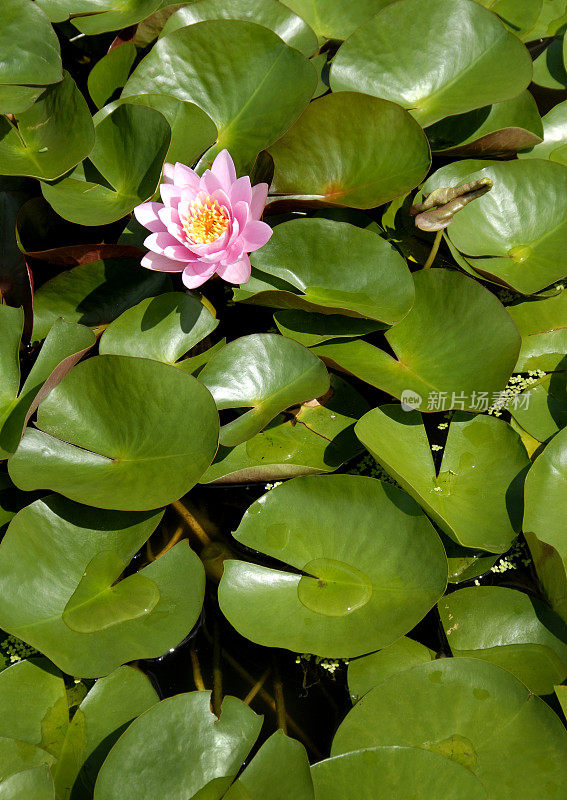
M 135 573 L 157 588 L 157 604 L 147 613 L 128 608 L 128 600 L 140 597 L 135 588 L 127 594 L 130 578 L 115 584 L 118 595 L 106 605 L 108 593 L 94 597 L 90 609 L 77 607 L 87 582 L 103 584 L 109 551 L 114 562 L 128 565 L 160 518 L 161 512 L 101 511 L 57 495 L 20 511 L 0 544 L 2 628 L 68 674 L 91 678 L 175 647 L 196 622 L 204 595 L 203 567 L 186 541 Z

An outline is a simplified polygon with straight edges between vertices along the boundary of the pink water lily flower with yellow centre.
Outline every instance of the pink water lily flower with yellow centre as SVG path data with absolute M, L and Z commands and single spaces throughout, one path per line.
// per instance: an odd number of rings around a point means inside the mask
M 229 283 L 246 283 L 248 253 L 272 235 L 270 226 L 260 221 L 268 184 L 251 186 L 248 176 L 237 178 L 227 150 L 221 150 L 201 177 L 179 162 L 165 164 L 163 175 L 163 203 L 134 209 L 138 222 L 151 231 L 142 266 L 182 272 L 189 289 L 215 273 Z

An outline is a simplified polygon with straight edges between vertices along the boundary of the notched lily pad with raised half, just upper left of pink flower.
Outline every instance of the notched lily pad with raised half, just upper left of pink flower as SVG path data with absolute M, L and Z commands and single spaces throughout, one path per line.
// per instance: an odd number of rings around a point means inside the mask
M 153 108 L 120 105 L 95 120 L 89 160 L 56 183 L 42 183 L 43 196 L 64 219 L 106 225 L 154 194 L 171 129 Z

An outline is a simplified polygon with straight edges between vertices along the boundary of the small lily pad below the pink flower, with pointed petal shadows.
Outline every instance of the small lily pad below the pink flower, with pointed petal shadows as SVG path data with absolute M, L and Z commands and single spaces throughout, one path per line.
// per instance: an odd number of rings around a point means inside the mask
M 142 300 L 111 322 L 99 352 L 174 364 L 218 324 L 193 295 L 167 292 Z

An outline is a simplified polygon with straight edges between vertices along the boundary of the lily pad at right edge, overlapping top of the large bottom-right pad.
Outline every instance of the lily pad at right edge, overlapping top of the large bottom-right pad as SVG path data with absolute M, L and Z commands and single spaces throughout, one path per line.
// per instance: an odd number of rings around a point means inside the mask
M 567 678 L 567 625 L 545 603 L 514 589 L 474 586 L 437 605 L 454 656 L 490 661 L 540 695 Z

